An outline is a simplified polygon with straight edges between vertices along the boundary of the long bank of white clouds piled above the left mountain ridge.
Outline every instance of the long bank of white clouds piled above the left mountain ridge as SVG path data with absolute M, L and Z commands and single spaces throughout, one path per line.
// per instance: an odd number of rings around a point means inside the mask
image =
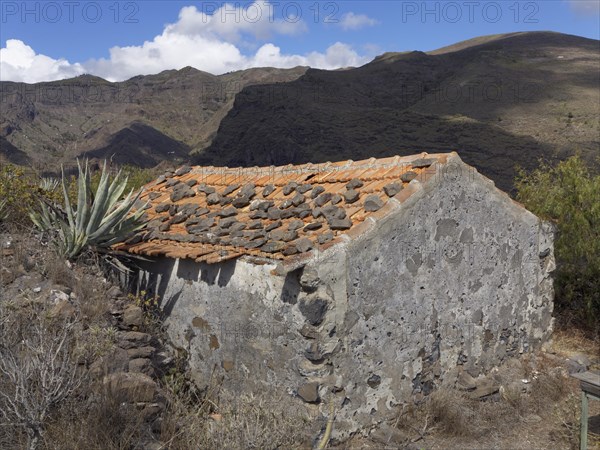
M 135 75 L 186 66 L 221 74 L 261 66 L 288 68 L 303 65 L 335 69 L 368 61 L 367 57 L 340 42 L 324 53 L 303 55 L 283 53 L 273 43 L 262 44 L 250 54 L 240 50 L 256 48 L 257 41 L 264 41 L 271 35 L 294 35 L 305 30 L 306 25 L 301 21 L 276 20 L 272 5 L 264 0 L 243 9 L 225 5 L 214 14 L 205 14 L 188 6 L 181 9 L 176 23 L 166 25 L 162 34 L 141 45 L 113 47 L 108 59 L 72 64 L 65 59 L 38 55 L 22 41 L 9 40 L 6 48 L 1 50 L 0 79 L 31 83 L 91 73 L 111 81 L 122 81 Z

